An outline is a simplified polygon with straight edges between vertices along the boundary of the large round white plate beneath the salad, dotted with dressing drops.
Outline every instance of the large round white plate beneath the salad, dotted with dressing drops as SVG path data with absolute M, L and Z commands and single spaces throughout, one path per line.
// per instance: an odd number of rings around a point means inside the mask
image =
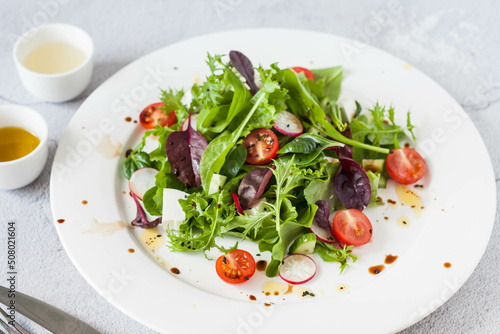
M 417 147 L 429 167 L 424 188 L 414 189 L 423 200 L 422 214 L 417 218 L 399 204 L 366 210 L 373 241 L 356 249 L 359 261 L 342 275 L 336 264 L 316 258 L 317 276 L 306 284 L 314 298 L 266 297 L 261 286 L 270 279 L 261 272 L 246 284 L 226 285 L 215 274 L 214 261 L 201 254 L 170 253 L 167 247 L 152 253 L 139 238 L 143 230 L 116 223 L 127 225 L 135 216 L 121 166 L 126 149 L 142 135 L 140 126 L 125 118 L 137 120 L 142 108 L 158 101 L 158 86 L 189 89 L 193 80 L 202 80 L 207 51 L 232 49 L 254 65 L 343 65 L 343 97 L 365 105 L 392 103 L 402 122 L 411 110 L 417 126 Z M 464 159 L 471 152 L 473 160 Z M 381 196 L 397 200 L 394 184 Z M 117 308 L 162 333 L 401 330 L 446 302 L 472 273 L 491 233 L 495 198 L 493 169 L 477 130 L 435 82 L 380 50 L 332 35 L 281 29 L 202 36 L 125 67 L 82 104 L 61 139 L 51 178 L 57 231 L 80 273 Z M 409 217 L 409 227 L 397 224 L 401 216 Z M 251 243 L 241 248 L 257 253 Z M 399 258 L 371 275 L 368 268 L 382 264 L 387 254 Z M 269 254 L 260 258 L 269 259 Z M 452 267 L 445 268 L 445 262 Z M 180 275 L 172 274 L 171 267 Z M 340 291 L 339 284 L 346 288 Z M 265 307 L 269 302 L 274 304 Z

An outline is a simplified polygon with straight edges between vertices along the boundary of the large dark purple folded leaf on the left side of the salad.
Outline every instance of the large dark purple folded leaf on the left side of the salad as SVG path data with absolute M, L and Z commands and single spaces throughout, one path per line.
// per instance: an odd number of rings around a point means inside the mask
M 207 140 L 193 129 L 191 124 L 188 124 L 184 131 L 175 131 L 168 135 L 165 151 L 172 172 L 179 181 L 191 187 L 201 186 L 200 161 L 207 146 Z

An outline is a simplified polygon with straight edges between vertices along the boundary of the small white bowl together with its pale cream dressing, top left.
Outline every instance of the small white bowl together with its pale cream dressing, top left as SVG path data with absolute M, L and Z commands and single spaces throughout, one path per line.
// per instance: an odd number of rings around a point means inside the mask
M 63 23 L 25 32 L 14 45 L 14 62 L 26 90 L 48 102 L 81 94 L 90 82 L 94 43 L 82 29 Z

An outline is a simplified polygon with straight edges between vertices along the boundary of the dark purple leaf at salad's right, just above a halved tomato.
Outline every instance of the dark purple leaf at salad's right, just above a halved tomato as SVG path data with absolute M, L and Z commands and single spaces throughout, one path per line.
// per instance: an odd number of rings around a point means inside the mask
M 372 187 L 363 167 L 351 158 L 340 157 L 340 167 L 335 176 L 335 196 L 346 209 L 363 211 L 370 203 Z

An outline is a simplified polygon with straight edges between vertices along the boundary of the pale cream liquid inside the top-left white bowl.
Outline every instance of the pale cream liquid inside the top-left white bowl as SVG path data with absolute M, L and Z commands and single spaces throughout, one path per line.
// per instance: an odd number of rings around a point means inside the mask
M 47 43 L 31 51 L 24 59 L 24 66 L 43 74 L 58 74 L 71 71 L 85 60 L 85 54 L 72 45 Z

